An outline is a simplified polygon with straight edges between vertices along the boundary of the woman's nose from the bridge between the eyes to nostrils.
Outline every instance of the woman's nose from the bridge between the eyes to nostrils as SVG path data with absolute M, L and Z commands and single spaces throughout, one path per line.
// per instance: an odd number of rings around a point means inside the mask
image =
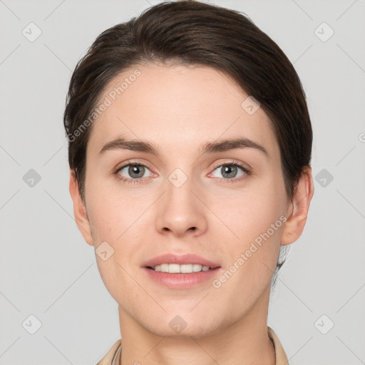
M 175 235 L 183 235 L 187 230 L 205 230 L 204 205 L 195 195 L 195 186 L 191 170 L 185 173 L 181 168 L 175 168 L 168 175 L 158 210 L 158 230 L 169 230 Z

